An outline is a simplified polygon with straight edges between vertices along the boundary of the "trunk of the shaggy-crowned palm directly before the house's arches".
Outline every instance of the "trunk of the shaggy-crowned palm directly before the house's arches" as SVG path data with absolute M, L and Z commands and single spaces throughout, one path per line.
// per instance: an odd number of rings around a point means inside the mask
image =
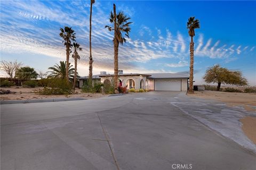
M 114 35 L 114 83 L 115 83 L 115 90 L 118 90 L 118 40 L 117 40 L 117 27 L 116 27 L 116 5 L 113 4 L 114 8 L 114 30 L 115 30 L 115 35 Z

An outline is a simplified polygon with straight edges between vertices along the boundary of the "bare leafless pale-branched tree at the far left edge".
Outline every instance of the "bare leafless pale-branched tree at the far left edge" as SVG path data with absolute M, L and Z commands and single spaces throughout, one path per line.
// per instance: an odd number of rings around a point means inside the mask
M 13 78 L 13 75 L 17 69 L 22 65 L 21 62 L 17 62 L 17 60 L 13 62 L 8 62 L 5 60 L 2 60 L 0 62 L 0 69 L 3 70 L 6 74 L 10 76 L 10 78 Z

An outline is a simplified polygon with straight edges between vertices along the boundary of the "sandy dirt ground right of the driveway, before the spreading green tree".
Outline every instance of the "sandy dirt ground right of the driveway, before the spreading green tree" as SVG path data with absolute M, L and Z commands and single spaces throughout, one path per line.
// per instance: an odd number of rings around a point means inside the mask
M 243 106 L 246 111 L 256 111 L 256 94 L 246 94 L 242 92 L 222 92 L 222 91 L 194 91 L 194 94 L 187 94 L 189 97 L 205 99 L 216 99 L 226 103 L 228 106 Z

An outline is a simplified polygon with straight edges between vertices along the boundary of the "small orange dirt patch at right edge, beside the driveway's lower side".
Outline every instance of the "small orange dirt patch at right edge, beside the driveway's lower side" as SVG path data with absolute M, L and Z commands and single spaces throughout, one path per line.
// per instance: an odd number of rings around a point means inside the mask
M 240 122 L 243 123 L 242 129 L 244 133 L 256 145 L 256 117 L 244 117 L 241 118 Z

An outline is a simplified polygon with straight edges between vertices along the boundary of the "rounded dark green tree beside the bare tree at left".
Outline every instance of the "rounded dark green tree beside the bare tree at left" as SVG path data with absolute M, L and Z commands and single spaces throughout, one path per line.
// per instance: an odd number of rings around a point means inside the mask
M 35 71 L 35 69 L 28 66 L 20 67 L 20 69 L 17 69 L 15 72 L 15 78 L 25 79 L 25 80 L 36 79 L 37 75 L 38 74 Z

